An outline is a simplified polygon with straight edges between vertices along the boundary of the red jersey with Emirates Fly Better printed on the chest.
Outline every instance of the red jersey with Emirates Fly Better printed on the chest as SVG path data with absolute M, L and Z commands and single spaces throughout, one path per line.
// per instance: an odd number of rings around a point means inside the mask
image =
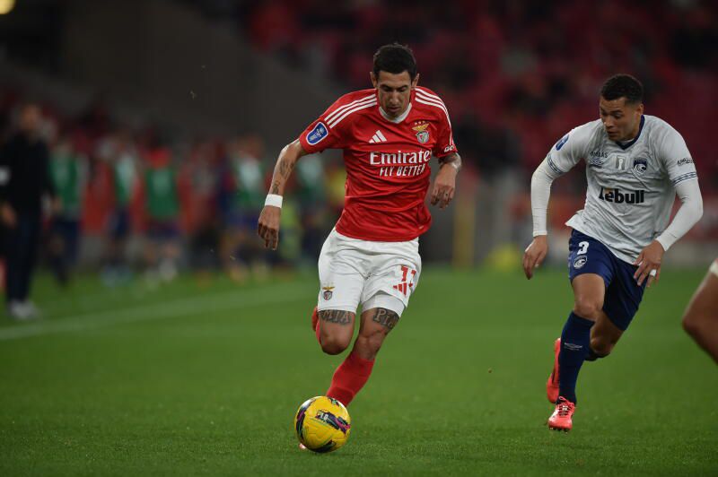
M 346 94 L 299 141 L 308 153 L 344 150 L 346 194 L 337 231 L 381 242 L 416 239 L 429 229 L 429 160 L 456 152 L 446 106 L 433 91 L 418 87 L 396 119 L 385 116 L 376 90 Z

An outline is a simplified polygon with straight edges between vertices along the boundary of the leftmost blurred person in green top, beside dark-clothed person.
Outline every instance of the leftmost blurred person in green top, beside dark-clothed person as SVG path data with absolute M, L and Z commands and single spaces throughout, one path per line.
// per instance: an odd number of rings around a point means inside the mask
M 49 265 L 57 282 L 66 285 L 80 245 L 87 158 L 74 152 L 72 143 L 62 136 L 53 147 L 49 169 L 60 204 L 49 231 Z

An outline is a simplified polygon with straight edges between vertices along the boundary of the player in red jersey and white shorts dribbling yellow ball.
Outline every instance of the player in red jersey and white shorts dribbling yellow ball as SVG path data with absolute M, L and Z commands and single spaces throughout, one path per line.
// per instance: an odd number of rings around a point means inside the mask
M 425 204 L 430 160 L 439 160 L 431 202 L 451 203 L 461 159 L 443 101 L 417 86 L 411 49 L 385 45 L 374 55 L 372 89 L 346 94 L 280 152 L 258 234 L 276 249 L 282 195 L 296 161 L 341 149 L 346 166 L 344 211 L 321 249 L 320 291 L 312 314 L 321 349 L 345 351 L 362 315 L 354 348 L 327 391 L 348 405 L 364 386 L 374 358 L 397 325 L 421 273 L 418 237 L 431 225 Z

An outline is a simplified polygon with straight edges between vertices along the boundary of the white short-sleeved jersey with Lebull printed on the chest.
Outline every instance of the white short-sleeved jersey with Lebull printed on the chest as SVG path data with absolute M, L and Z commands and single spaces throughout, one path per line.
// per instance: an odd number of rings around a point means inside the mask
M 586 161 L 586 203 L 566 225 L 599 240 L 621 260 L 635 257 L 665 230 L 675 186 L 697 181 L 686 142 L 658 117 L 644 115 L 634 140 L 609 139 L 600 119 L 574 128 L 547 155 L 563 174 Z

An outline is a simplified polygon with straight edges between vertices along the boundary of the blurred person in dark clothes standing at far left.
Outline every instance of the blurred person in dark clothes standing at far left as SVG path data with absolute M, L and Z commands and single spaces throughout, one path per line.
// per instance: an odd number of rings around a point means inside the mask
M 41 138 L 42 114 L 37 104 L 20 108 L 18 131 L 0 150 L 0 220 L 5 264 L 5 299 L 17 320 L 39 315 L 29 299 L 39 248 L 42 199 L 59 207 L 49 178 L 48 145 Z

